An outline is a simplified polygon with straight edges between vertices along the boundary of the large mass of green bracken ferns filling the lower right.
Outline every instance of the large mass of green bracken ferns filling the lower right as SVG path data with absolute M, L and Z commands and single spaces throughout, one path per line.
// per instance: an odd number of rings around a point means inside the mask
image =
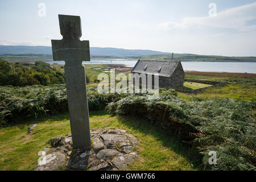
M 255 102 L 218 98 L 187 102 L 161 92 L 156 100 L 128 96 L 106 106 L 112 114 L 134 115 L 157 123 L 199 148 L 204 169 L 256 170 Z M 217 152 L 217 165 L 208 162 Z

